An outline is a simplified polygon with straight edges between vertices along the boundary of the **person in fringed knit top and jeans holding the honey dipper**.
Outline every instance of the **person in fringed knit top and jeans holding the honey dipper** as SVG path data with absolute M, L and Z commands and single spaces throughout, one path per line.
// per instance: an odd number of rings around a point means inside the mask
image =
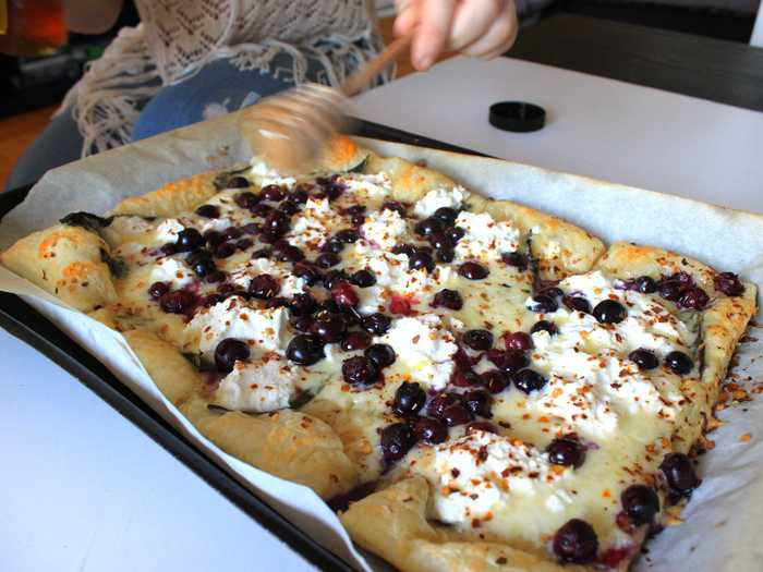
M 373 0 L 134 0 L 122 28 L 69 92 L 7 185 L 132 141 L 255 104 L 303 82 L 338 85 L 382 48 Z M 102 33 L 122 0 L 64 0 L 70 29 Z M 397 0 L 411 62 L 445 50 L 493 58 L 517 36 L 513 0 Z M 389 80 L 383 74 L 378 82 Z

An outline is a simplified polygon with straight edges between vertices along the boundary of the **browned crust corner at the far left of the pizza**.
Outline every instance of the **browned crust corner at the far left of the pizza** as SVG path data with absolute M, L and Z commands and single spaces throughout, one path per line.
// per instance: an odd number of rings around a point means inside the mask
M 111 272 L 102 260 L 109 246 L 80 227 L 59 224 L 21 239 L 0 261 L 82 312 L 117 300 Z

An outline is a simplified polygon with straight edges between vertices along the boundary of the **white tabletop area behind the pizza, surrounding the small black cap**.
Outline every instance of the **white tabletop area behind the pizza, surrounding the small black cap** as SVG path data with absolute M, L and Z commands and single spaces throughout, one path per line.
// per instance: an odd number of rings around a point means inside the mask
M 546 109 L 508 133 L 491 104 Z M 355 114 L 495 157 L 763 212 L 763 113 L 509 58 L 455 58 L 356 98 Z

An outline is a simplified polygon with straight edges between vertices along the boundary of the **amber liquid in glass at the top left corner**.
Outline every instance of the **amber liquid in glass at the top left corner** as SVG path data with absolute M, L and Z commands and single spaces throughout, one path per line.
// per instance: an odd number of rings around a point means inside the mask
M 0 0 L 0 12 L 3 8 L 7 26 L 0 33 L 0 52 L 43 56 L 66 42 L 63 0 Z

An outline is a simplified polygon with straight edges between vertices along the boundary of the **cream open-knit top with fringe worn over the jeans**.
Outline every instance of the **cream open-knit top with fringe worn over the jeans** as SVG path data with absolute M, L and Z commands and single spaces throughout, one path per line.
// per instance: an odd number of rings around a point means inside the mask
M 141 24 L 120 31 L 66 95 L 84 136 L 83 156 L 128 143 L 142 104 L 218 58 L 270 71 L 278 53 L 305 80 L 307 60 L 337 85 L 380 46 L 366 0 L 135 0 Z

